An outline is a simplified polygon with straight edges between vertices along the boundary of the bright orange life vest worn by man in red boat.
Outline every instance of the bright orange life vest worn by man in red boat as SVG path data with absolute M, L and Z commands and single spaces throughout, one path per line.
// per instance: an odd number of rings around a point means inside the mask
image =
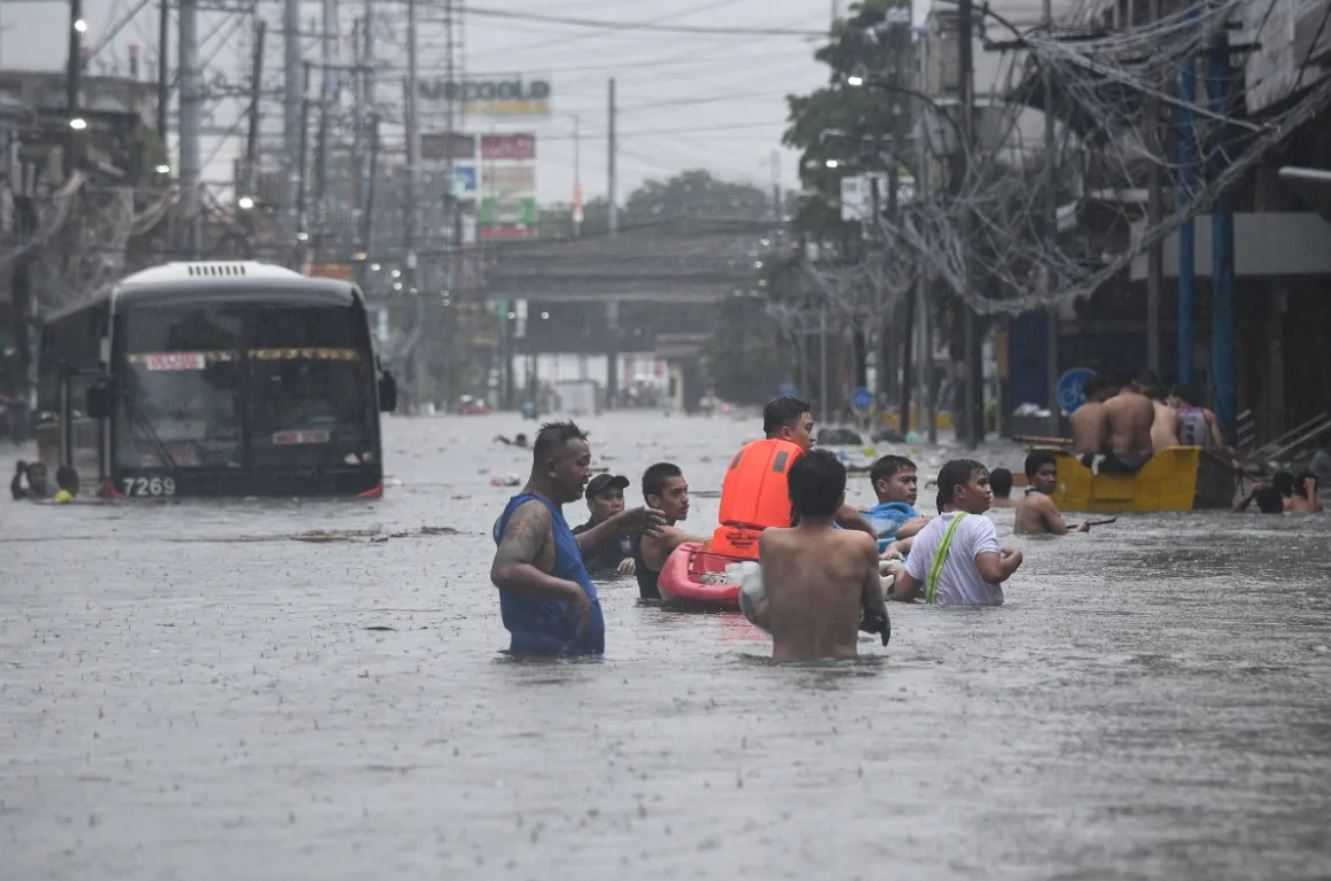
M 789 440 L 755 440 L 731 459 L 721 483 L 721 524 L 708 548 L 715 554 L 757 559 L 757 536 L 769 526 L 791 524 L 795 508 L 787 475 L 804 455 Z

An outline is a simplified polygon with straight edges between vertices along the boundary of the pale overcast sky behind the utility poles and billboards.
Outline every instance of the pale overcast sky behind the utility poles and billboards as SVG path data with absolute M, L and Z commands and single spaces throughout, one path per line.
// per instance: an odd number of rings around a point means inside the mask
M 928 0 L 916 1 L 917 23 Z M 1066 8 L 1071 0 L 1055 0 Z M 138 0 L 84 0 L 89 21 L 88 43 L 98 44 L 110 24 L 122 19 Z M 425 19 L 438 16 L 442 4 L 422 0 Z M 845 5 L 844 0 L 840 4 Z M 483 0 L 478 9 L 502 9 L 523 15 L 572 16 L 600 20 L 651 21 L 669 25 L 733 28 L 779 28 L 825 31 L 832 15 L 831 0 Z M 1008 0 L 994 7 L 1030 19 L 1038 15 L 1040 0 Z M 318 3 L 302 4 L 302 19 L 317 20 Z M 350 35 L 359 15 L 361 0 L 341 0 L 339 23 Z M 398 5 L 398 9 L 402 7 Z M 281 5 L 261 3 L 261 15 L 270 28 L 276 60 L 281 27 Z M 93 64 L 118 61 L 125 69 L 128 45 L 142 47 L 144 59 L 156 55 L 156 4 L 149 3 L 110 41 Z M 405 13 L 403 13 L 405 19 Z M 64 64 L 64 33 L 68 7 L 52 0 L 0 0 L 0 64 L 16 68 L 57 69 Z M 205 20 L 201 33 L 212 32 Z M 425 25 L 423 33 L 430 25 Z M 438 35 L 438 28 L 434 29 Z M 544 77 L 552 85 L 552 114 L 543 120 L 473 120 L 475 130 L 532 130 L 538 134 L 538 189 L 543 202 L 568 201 L 574 181 L 574 120 L 579 117 L 583 193 L 592 198 L 606 192 L 606 83 L 614 76 L 619 92 L 620 150 L 619 196 L 623 200 L 647 178 L 663 178 L 688 168 L 707 168 L 720 177 L 763 186 L 772 182 L 772 153 L 783 186 L 797 182 L 796 156 L 780 149 L 785 125 L 785 96 L 808 92 L 827 80 L 827 69 L 813 61 L 820 39 L 801 36 L 740 36 L 666 32 L 623 32 L 568 27 L 548 21 L 511 20 L 466 15 L 462 63 L 470 76 L 520 72 Z M 174 37 L 174 33 L 173 33 Z M 217 40 L 222 43 L 222 40 Z M 423 73 L 442 67 L 437 36 L 423 39 Z M 225 40 L 213 68 L 236 84 L 246 79 L 242 60 L 246 48 L 240 37 Z M 317 52 L 310 47 L 310 57 Z M 350 60 L 349 41 L 343 47 Z M 381 83 L 399 77 L 405 56 L 389 40 L 379 41 Z M 212 71 L 209 72 L 212 75 Z M 144 72 L 145 77 L 150 72 Z M 272 85 L 280 71 L 270 67 Z M 221 106 L 216 121 L 226 124 L 240 110 L 238 102 Z M 281 106 L 265 105 L 266 130 L 280 130 Z M 230 158 L 242 138 L 205 145 L 205 158 L 213 156 L 205 174 L 212 180 L 230 177 Z

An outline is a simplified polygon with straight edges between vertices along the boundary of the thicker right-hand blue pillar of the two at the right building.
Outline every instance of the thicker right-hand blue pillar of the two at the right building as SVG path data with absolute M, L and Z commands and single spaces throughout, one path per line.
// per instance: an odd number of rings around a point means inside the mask
M 1230 39 L 1225 31 L 1215 39 L 1211 51 L 1211 109 L 1219 116 L 1230 112 Z M 1227 164 L 1230 144 L 1229 125 L 1215 128 L 1215 158 L 1211 174 L 1219 174 Z M 1222 193 L 1211 208 L 1211 387 L 1214 389 L 1215 418 L 1221 431 L 1234 440 L 1238 414 L 1238 390 L 1234 377 L 1234 200 Z

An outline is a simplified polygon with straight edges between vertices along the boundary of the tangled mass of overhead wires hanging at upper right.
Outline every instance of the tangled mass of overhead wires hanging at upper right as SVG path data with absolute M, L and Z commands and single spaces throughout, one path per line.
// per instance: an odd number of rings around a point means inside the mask
M 1294 101 L 1247 118 L 1244 89 L 1256 84 L 1230 69 L 1223 40 L 1234 27 L 1263 27 L 1262 4 L 1187 4 L 1113 31 L 1091 16 L 1105 4 L 1082 5 L 1078 27 L 1006 25 L 1017 39 L 990 44 L 1001 52 L 998 75 L 977 90 L 989 100 L 970 142 L 930 124 L 938 108 L 916 125 L 916 161 L 946 185 L 872 224 L 884 252 L 912 254 L 980 314 L 1093 294 L 1331 105 L 1331 81 L 1304 77 L 1311 85 Z M 1047 93 L 1045 83 L 1054 84 Z M 1045 112 L 1057 120 L 1051 154 L 1038 134 Z M 1170 206 L 1159 218 L 1145 196 L 1153 173 Z

